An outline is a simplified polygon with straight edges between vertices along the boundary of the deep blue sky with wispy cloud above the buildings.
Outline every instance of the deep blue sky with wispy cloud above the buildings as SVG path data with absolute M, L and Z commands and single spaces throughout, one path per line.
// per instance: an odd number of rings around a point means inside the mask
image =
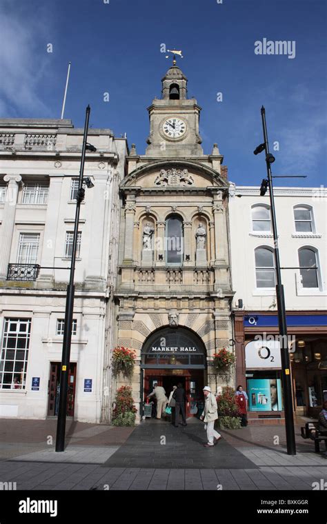
M 217 142 L 230 181 L 259 185 L 266 175 L 260 108 L 275 174 L 306 174 L 276 185 L 326 185 L 325 0 L 0 0 L 0 117 L 60 118 L 68 61 L 65 117 L 110 128 L 143 154 L 148 112 L 171 61 L 201 105 L 204 152 Z M 295 58 L 255 54 L 255 41 L 295 41 Z M 47 44 L 52 44 L 52 53 Z M 109 92 L 110 101 L 103 101 Z M 217 101 L 217 92 L 223 100 Z

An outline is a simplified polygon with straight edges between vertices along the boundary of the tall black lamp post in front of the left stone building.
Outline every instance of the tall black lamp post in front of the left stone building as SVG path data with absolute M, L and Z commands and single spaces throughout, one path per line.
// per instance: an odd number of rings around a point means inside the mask
M 86 150 L 92 152 L 97 151 L 94 145 L 87 143 L 88 138 L 88 122 L 90 119 L 90 105 L 86 108 L 86 119 L 84 125 L 83 147 L 81 153 L 81 168 L 79 170 L 79 189 L 77 191 L 77 204 L 75 213 L 74 236 L 72 241 L 72 263 L 70 264 L 70 279 L 67 287 L 66 310 L 65 310 L 65 327 L 63 330 L 63 352 L 61 356 L 61 374 L 60 374 L 60 393 L 59 393 L 59 410 L 57 420 L 57 438 L 56 438 L 56 452 L 62 452 L 65 448 L 65 430 L 66 430 L 66 415 L 67 415 L 67 393 L 68 393 L 68 374 L 70 366 L 70 343 L 72 340 L 72 315 L 74 308 L 74 275 L 75 275 L 75 261 L 77 252 L 77 236 L 79 230 L 79 211 L 81 202 L 84 199 L 85 189 L 83 185 L 92 188 L 93 184 L 89 177 L 83 179 L 84 163 Z

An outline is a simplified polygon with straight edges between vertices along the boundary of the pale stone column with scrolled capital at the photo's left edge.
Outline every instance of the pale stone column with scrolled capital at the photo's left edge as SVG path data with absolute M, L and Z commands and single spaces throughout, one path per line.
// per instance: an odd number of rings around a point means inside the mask
M 17 196 L 19 189 L 19 182 L 21 182 L 20 174 L 6 174 L 3 177 L 5 182 L 8 182 L 6 203 L 3 210 L 3 221 L 1 225 L 0 237 L 0 279 L 6 279 L 8 273 L 8 263 L 10 260 L 10 252 L 12 245 L 12 236 L 14 234 L 14 217 L 16 214 Z

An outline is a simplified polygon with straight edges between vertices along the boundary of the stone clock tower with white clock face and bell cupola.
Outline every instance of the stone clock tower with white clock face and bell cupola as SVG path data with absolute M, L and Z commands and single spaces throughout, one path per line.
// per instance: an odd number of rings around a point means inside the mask
M 188 79 L 175 58 L 161 82 L 162 97 L 155 98 L 148 108 L 146 157 L 200 157 L 204 153 L 199 136 L 201 108 L 195 98 L 188 99 Z

